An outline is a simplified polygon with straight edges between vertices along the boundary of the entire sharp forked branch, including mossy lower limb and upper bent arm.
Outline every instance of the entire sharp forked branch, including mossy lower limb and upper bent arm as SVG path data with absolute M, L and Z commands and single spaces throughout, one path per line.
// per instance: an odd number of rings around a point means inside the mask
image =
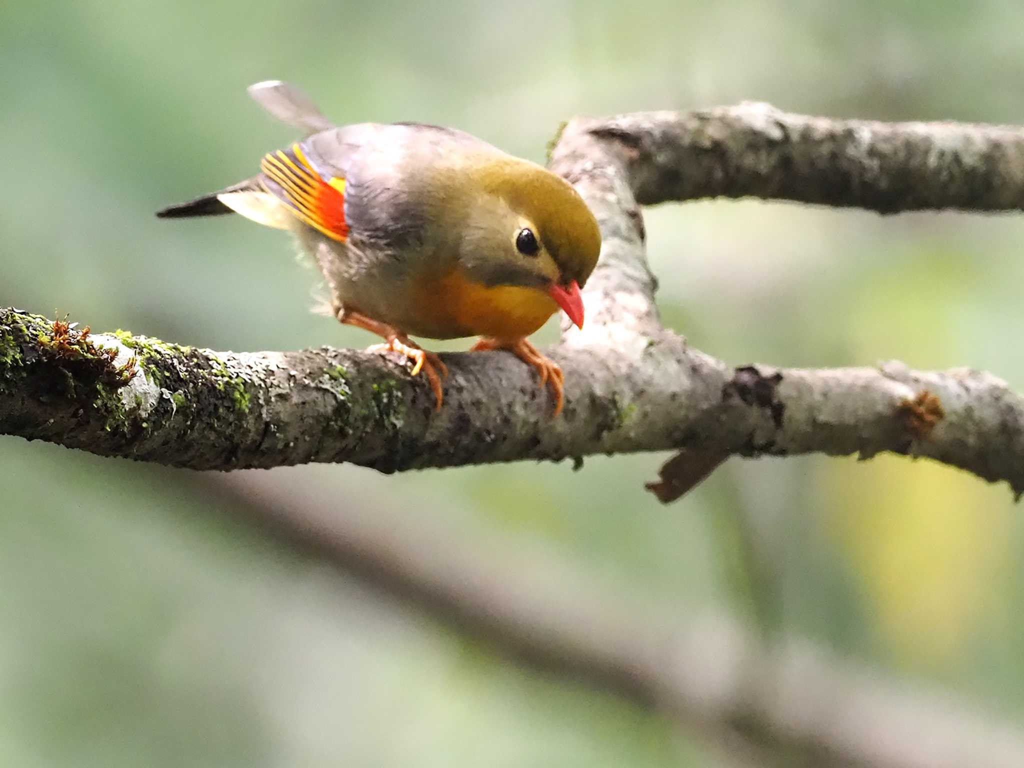
M 389 472 L 666 449 L 890 451 L 1024 490 L 1024 399 L 994 377 L 895 362 L 734 369 L 663 329 L 638 208 L 756 195 L 886 212 L 1016 210 L 1024 131 L 828 121 L 743 104 L 574 120 L 551 168 L 577 186 L 603 233 L 585 291 L 587 327 L 563 329 L 550 350 L 566 378 L 558 419 L 532 372 L 503 352 L 445 355 L 452 375 L 435 414 L 423 381 L 377 354 L 214 352 L 58 333 L 51 321 L 8 309 L 0 433 L 194 469 L 347 461 Z M 137 372 L 124 384 L 132 356 Z

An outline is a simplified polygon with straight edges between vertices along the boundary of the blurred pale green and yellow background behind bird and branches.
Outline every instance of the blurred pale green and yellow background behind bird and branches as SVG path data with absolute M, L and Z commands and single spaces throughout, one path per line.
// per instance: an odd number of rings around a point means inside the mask
M 287 237 L 153 216 L 292 140 L 246 96 L 258 80 L 300 84 L 339 122 L 453 125 L 543 161 L 575 114 L 740 99 L 1024 123 L 1022 31 L 1006 1 L 8 1 L 0 305 L 216 349 L 373 342 L 309 313 L 315 275 Z M 647 229 L 666 322 L 731 362 L 896 357 L 1024 388 L 1022 216 L 705 202 L 651 210 Z M 755 531 L 786 632 L 1024 714 L 1006 486 L 897 458 L 733 460 L 662 507 L 642 482 L 665 458 L 274 472 L 339 515 L 436 521 L 683 616 L 753 614 Z M 249 529 L 199 479 L 0 437 L 0 764 L 712 764 L 685 730 Z

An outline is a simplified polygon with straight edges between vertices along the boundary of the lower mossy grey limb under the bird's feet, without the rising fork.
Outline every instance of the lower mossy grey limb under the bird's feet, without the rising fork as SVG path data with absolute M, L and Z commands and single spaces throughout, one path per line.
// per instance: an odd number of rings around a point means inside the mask
M 351 462 L 391 472 L 686 449 L 928 456 L 1024 488 L 1024 401 L 970 371 L 736 369 L 678 336 L 577 334 L 551 350 L 567 399 L 550 417 L 504 352 L 446 355 L 444 407 L 379 354 L 214 352 L 0 310 L 0 432 L 193 469 Z

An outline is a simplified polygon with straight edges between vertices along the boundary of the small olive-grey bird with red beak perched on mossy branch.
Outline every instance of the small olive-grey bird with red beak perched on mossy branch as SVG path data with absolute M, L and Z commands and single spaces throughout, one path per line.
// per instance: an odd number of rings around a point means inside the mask
M 559 309 L 583 328 L 601 233 L 572 185 L 458 129 L 337 126 L 292 84 L 248 91 L 303 137 L 264 155 L 256 175 L 157 216 L 234 213 L 290 230 L 319 267 L 334 316 L 384 339 L 368 351 L 409 359 L 436 410 L 447 367 L 411 336 L 475 336 L 470 351 L 512 352 L 551 388 L 557 417 L 564 376 L 526 337 Z

